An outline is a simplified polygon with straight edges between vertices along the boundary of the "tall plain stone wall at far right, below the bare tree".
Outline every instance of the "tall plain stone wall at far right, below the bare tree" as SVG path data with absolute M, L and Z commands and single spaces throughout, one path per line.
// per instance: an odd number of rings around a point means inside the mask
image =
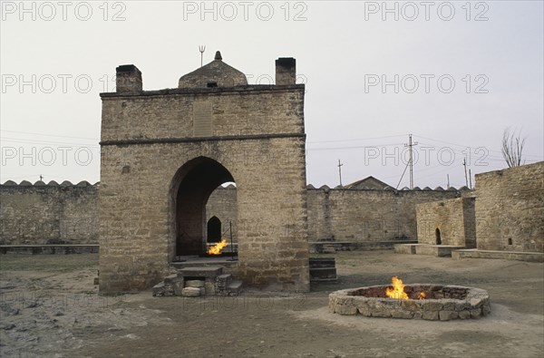
M 481 250 L 544 252 L 544 161 L 476 175 Z

